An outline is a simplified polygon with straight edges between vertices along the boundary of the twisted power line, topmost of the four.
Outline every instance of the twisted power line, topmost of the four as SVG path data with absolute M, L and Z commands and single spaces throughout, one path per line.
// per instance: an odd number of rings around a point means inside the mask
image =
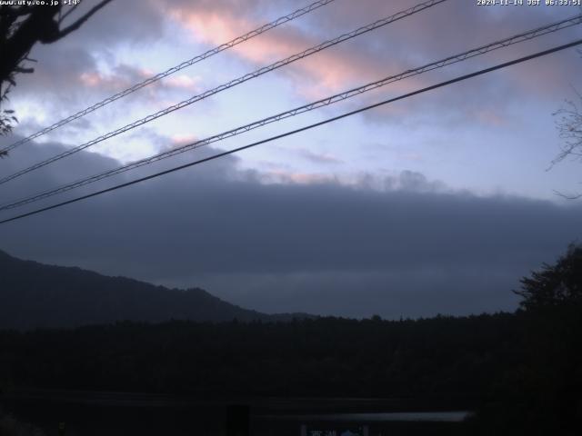
M 124 91 L 121 91 L 117 94 L 111 95 L 110 97 L 105 98 L 105 100 L 102 100 L 101 102 L 95 103 L 92 106 L 89 106 L 86 109 L 77 112 L 76 114 L 72 114 L 72 115 L 62 119 L 61 121 L 55 123 L 55 124 L 49 125 L 48 127 L 45 127 L 44 129 L 39 130 L 35 134 L 31 134 L 30 136 L 27 136 L 19 141 L 16 141 L 14 144 L 7 145 L 5 148 L 3 148 L 0 151 L 1 152 L 9 152 L 11 150 L 14 150 L 16 147 L 18 147 L 22 144 L 26 144 L 26 143 L 38 138 L 39 136 L 42 136 L 44 134 L 48 134 L 49 132 L 52 132 L 53 130 L 55 130 L 59 127 L 62 127 L 65 124 L 68 124 L 72 121 L 75 121 L 76 119 L 81 118 L 81 117 L 85 116 L 86 114 L 91 114 L 92 112 L 95 112 L 97 109 L 102 108 L 106 104 L 110 104 L 112 102 L 115 102 L 115 100 L 118 100 L 122 97 L 125 97 L 125 95 L 135 93 L 135 91 L 147 86 L 148 84 L 154 84 L 157 81 L 162 80 L 163 78 L 167 77 L 168 75 L 175 74 L 178 71 L 183 70 L 184 68 L 186 68 L 188 66 L 197 64 L 198 62 L 201 62 L 201 61 L 203 61 L 211 56 L 214 56 L 215 54 L 218 54 L 218 53 L 223 52 L 229 48 L 232 48 L 235 45 L 239 45 L 241 43 L 244 43 L 244 42 L 248 41 L 249 39 L 254 38 L 257 35 L 264 34 L 265 32 L 267 32 L 271 29 L 274 29 L 275 27 L 277 27 L 279 25 L 283 25 L 285 23 L 293 21 L 302 15 L 306 15 L 312 11 L 315 11 L 316 9 L 318 9 L 321 6 L 328 5 L 328 4 L 335 2 L 335 1 L 336 0 L 318 0 L 314 3 L 312 3 L 311 5 L 307 5 L 306 7 L 302 7 L 301 9 L 297 9 L 295 12 L 292 12 L 289 15 L 280 16 L 275 21 L 272 21 L 270 23 L 267 23 L 266 25 L 262 25 L 260 27 L 257 27 L 255 30 L 251 30 L 250 32 L 246 33 L 245 35 L 238 36 L 235 39 L 233 39 L 225 44 L 218 45 L 215 48 L 208 50 L 207 52 L 205 52 L 203 54 L 198 54 L 196 57 L 193 57 L 192 59 L 184 61 L 182 64 L 178 64 L 176 66 L 173 66 L 172 68 L 169 68 L 162 73 L 148 77 L 145 80 L 143 80 L 142 82 L 139 82 L 138 84 L 134 84 L 133 86 L 125 89 Z

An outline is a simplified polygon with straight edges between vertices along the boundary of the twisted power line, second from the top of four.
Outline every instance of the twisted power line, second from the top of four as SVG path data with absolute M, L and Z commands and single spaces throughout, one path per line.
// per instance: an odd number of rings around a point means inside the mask
M 217 86 L 216 88 L 213 88 L 213 89 L 210 89 L 210 90 L 204 92 L 203 94 L 197 94 L 197 95 L 195 95 L 187 100 L 184 100 L 183 102 L 169 106 L 166 109 L 163 109 L 161 111 L 156 112 L 156 114 L 147 115 L 145 118 L 137 120 L 134 123 L 127 124 L 124 127 L 121 127 L 113 132 L 109 132 L 107 134 L 99 136 L 99 137 L 95 138 L 94 140 L 89 141 L 88 143 L 77 145 L 76 147 L 73 147 L 73 148 L 71 148 L 71 149 L 69 149 L 61 154 L 56 154 L 53 157 L 45 159 L 45 161 L 35 163 L 35 164 L 33 164 L 33 165 L 23 169 L 23 170 L 20 170 L 16 173 L 5 176 L 4 178 L 0 179 L 0 184 L 9 182 L 9 181 L 15 179 L 16 177 L 20 177 L 21 175 L 24 175 L 25 173 L 30 173 L 32 171 L 35 171 L 38 168 L 42 168 L 43 166 L 45 166 L 49 163 L 54 163 L 60 159 L 64 159 L 65 157 L 70 156 L 71 154 L 78 153 L 81 150 L 85 150 L 88 147 L 91 147 L 95 144 L 101 143 L 102 141 L 105 141 L 106 139 L 110 139 L 118 134 L 123 134 L 129 130 L 134 129 L 135 127 L 140 126 L 140 125 L 147 124 L 151 121 L 156 120 L 157 118 L 159 118 L 161 116 L 164 116 L 166 114 L 170 114 L 170 113 L 177 111 L 179 109 L 182 109 L 190 104 L 194 104 L 196 102 L 204 100 L 211 95 L 218 94 L 222 91 L 226 91 L 226 89 L 232 88 L 233 86 L 236 86 L 237 84 L 243 84 L 248 80 L 251 80 L 251 79 L 254 79 L 260 75 L 269 73 L 269 72 L 276 70 L 277 68 L 281 68 L 282 66 L 285 66 L 287 64 L 291 64 L 293 62 L 296 62 L 299 59 L 305 58 L 306 56 L 309 56 L 311 54 L 316 54 L 318 52 L 321 52 L 322 50 L 326 50 L 326 48 L 329 48 L 333 45 L 338 45 L 338 44 L 343 43 L 344 41 L 346 41 L 348 39 L 352 39 L 358 35 L 366 34 L 367 32 L 371 32 L 379 27 L 389 25 L 389 24 L 394 23 L 398 20 L 406 18 L 407 16 L 414 15 L 418 12 L 426 10 L 429 7 L 444 3 L 446 1 L 447 0 L 429 0 L 427 2 L 410 7 L 404 11 L 398 12 L 395 15 L 390 15 L 386 18 L 378 20 L 378 21 L 371 23 L 369 25 L 359 27 L 356 30 L 349 32 L 347 34 L 337 36 L 336 38 L 330 39 L 330 40 L 328 40 L 325 43 L 322 43 L 320 45 L 315 45 L 315 46 L 308 48 L 307 50 L 305 50 L 301 53 L 293 54 L 293 55 L 287 57 L 286 59 L 283 59 L 281 61 L 277 61 L 274 64 L 270 64 L 270 65 L 264 66 L 262 68 L 259 68 L 258 70 L 256 70 L 253 73 L 248 73 L 248 74 L 242 75 L 242 76 L 240 76 L 240 77 L 238 77 L 238 78 L 236 78 L 236 79 L 234 79 L 226 84 L 221 84 L 221 85 Z

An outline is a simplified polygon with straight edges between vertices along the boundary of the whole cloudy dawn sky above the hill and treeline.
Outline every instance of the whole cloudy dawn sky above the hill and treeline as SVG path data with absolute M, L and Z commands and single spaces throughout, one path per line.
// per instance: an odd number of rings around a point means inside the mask
M 527 3 L 527 2 L 524 2 Z M 36 45 L 0 146 L 307 5 L 114 1 Z M 83 0 L 80 15 L 95 2 Z M 416 5 L 336 0 L 15 149 L 8 175 L 291 54 Z M 0 186 L 9 202 L 580 13 L 448 0 L 167 114 Z M 556 34 L 389 84 L 314 112 L 0 212 L 8 218 L 282 134 L 580 38 Z M 576 49 L 287 136 L 82 203 L 0 225 L 0 249 L 262 312 L 386 318 L 511 311 L 520 277 L 580 241 L 582 163 L 551 167 L 555 114 L 577 99 Z M 551 168 L 550 168 L 551 167 Z

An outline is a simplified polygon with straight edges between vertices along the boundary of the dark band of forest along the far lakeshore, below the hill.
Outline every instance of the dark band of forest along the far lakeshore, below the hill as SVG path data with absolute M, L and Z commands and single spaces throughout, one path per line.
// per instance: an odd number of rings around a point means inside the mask
M 515 332 L 509 314 L 401 322 L 121 322 L 0 332 L 0 370 L 21 386 L 45 388 L 403 397 L 467 407 L 515 359 Z

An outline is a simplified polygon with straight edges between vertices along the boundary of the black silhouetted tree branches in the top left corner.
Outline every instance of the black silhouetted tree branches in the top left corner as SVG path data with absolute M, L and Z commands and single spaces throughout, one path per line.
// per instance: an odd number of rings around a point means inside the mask
M 75 11 L 76 5 L 63 14 L 59 5 L 1 5 L 0 6 L 0 105 L 15 86 L 15 75 L 30 74 L 35 70 L 28 62 L 28 54 L 36 43 L 52 44 L 77 30 L 99 9 L 112 0 L 102 0 L 71 25 L 63 26 L 65 18 Z M 17 3 L 17 2 L 15 2 Z M 0 135 L 12 132 L 17 122 L 14 111 L 1 109 Z M 0 153 L 0 157 L 4 157 Z

